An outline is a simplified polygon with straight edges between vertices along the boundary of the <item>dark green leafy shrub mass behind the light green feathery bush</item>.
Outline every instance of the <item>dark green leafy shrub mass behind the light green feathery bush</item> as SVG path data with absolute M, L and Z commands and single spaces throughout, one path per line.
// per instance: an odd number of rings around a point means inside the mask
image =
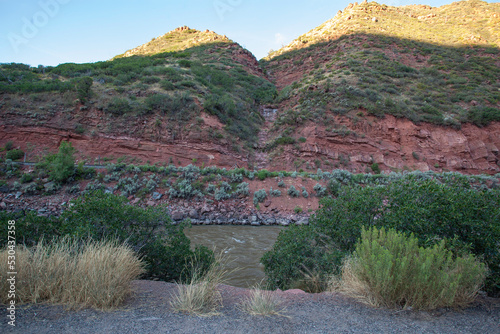
M 454 254 L 471 252 L 490 269 L 486 291 L 500 293 L 500 190 L 475 190 L 460 179 L 403 179 L 386 187 L 343 187 L 335 199 L 323 199 L 312 217 L 314 233 L 335 246 L 354 250 L 362 226 L 412 232 L 421 246 L 445 240 Z

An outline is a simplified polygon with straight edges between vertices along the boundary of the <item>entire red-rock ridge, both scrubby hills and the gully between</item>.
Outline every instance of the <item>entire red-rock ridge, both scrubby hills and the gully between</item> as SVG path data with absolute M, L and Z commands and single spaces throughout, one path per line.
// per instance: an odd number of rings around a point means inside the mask
M 500 172 L 500 4 L 346 9 L 258 62 L 180 27 L 112 60 L 0 64 L 0 144 L 28 160 Z

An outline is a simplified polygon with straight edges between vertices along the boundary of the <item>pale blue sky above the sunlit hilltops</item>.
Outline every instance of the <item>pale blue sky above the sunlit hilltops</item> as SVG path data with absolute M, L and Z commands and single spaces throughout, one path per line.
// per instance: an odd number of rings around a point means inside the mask
M 334 17 L 349 2 L 354 1 L 0 0 L 0 63 L 54 66 L 107 60 L 184 25 L 226 35 L 260 59 Z

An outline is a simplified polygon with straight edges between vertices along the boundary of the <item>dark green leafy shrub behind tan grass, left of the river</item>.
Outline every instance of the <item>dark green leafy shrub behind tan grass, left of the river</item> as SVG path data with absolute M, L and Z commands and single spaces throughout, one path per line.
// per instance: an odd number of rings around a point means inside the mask
M 65 235 L 129 244 L 146 262 L 145 277 L 150 279 L 177 281 L 189 275 L 195 258 L 194 265 L 203 268 L 213 260 L 206 247 L 190 249 L 185 225 L 172 225 L 166 207 L 142 209 L 128 205 L 124 197 L 94 192 L 77 198 L 61 219 Z

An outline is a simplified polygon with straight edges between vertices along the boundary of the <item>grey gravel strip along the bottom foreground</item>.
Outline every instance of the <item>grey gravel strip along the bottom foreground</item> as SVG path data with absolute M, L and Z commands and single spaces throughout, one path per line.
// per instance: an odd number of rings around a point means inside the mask
M 66 310 L 28 305 L 17 309 L 16 327 L 0 309 L 1 333 L 500 333 L 500 300 L 480 297 L 470 308 L 432 312 L 374 309 L 340 294 L 275 292 L 285 315 L 251 316 L 238 308 L 249 290 L 221 286 L 224 307 L 210 318 L 174 313 L 175 285 L 134 281 L 134 294 L 120 309 Z

